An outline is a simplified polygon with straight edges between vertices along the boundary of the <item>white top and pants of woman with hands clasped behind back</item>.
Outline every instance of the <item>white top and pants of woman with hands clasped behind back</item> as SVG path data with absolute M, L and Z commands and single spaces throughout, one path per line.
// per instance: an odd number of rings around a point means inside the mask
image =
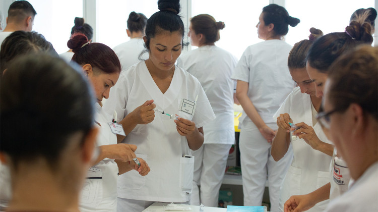
M 248 82 L 248 97 L 263 121 L 273 130 L 278 127 L 272 117 L 294 87 L 287 68 L 291 47 L 277 39 L 251 45 L 244 51 L 232 75 L 235 80 Z M 292 154 L 288 152 L 275 162 L 270 155 L 271 144 L 244 111 L 239 121 L 244 205 L 261 205 L 268 172 L 271 210 L 278 211 L 280 186 L 291 164 Z

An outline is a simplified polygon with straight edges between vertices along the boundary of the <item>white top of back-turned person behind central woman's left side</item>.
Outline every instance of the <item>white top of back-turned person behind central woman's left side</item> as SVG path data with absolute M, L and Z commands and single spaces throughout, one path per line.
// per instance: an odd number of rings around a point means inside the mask
M 124 71 L 134 64 L 141 62 L 139 60 L 139 54 L 145 50 L 144 41 L 142 38 L 133 38 L 115 46 L 113 50 L 118 56 L 122 71 Z M 148 59 L 148 52 L 142 56 L 142 60 L 146 59 Z

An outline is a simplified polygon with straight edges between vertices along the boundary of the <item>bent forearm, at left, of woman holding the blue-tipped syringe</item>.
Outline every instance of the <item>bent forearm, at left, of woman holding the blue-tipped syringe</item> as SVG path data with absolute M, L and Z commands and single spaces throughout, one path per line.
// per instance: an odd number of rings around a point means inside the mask
M 273 139 L 271 154 L 275 161 L 281 160 L 285 156 L 290 145 L 290 133 L 282 128 L 278 128 L 277 134 Z

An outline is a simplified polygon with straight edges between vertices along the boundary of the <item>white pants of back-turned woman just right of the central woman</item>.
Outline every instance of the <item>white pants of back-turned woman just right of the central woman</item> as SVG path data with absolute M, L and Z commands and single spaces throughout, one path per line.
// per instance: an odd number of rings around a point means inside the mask
M 223 181 L 231 144 L 206 143 L 196 151 L 191 205 L 218 206 L 219 188 Z M 200 188 L 199 188 L 200 185 Z

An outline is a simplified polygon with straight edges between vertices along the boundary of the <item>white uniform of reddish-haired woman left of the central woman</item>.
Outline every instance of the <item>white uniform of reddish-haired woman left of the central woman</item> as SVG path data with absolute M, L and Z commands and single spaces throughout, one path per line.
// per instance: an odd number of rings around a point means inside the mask
M 112 133 L 108 122 L 112 117 L 95 104 L 95 121 L 101 125 L 97 136 L 97 146 L 116 144 L 116 134 Z M 96 124 L 96 126 L 98 126 Z M 80 211 L 116 211 L 117 208 L 117 176 L 118 166 L 114 160 L 105 158 L 88 170 L 88 176 L 84 183 L 80 196 Z M 96 179 L 101 177 L 102 179 Z

